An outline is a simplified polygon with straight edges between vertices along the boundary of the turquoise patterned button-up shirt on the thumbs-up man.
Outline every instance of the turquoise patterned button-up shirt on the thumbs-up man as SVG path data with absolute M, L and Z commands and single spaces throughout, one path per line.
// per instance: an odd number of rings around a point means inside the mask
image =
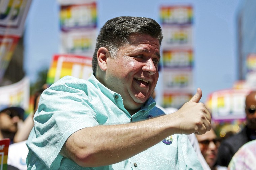
M 62 78 L 41 95 L 34 116 L 35 127 L 26 143 L 28 169 L 202 169 L 186 135 L 172 135 L 125 161 L 103 167 L 80 167 L 59 154 L 68 137 L 80 129 L 130 123 L 165 114 L 155 105 L 153 98 L 149 98 L 131 116 L 124 108 L 122 97 L 107 89 L 93 75 L 88 80 Z

